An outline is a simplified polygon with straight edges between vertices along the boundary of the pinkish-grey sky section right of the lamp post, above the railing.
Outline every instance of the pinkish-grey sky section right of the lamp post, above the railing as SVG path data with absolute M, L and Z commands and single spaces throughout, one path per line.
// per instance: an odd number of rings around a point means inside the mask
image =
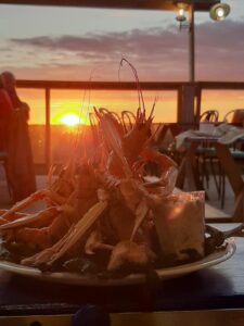
M 195 14 L 196 80 L 243 82 L 243 0 L 222 1 L 231 7 L 224 21 L 209 12 Z

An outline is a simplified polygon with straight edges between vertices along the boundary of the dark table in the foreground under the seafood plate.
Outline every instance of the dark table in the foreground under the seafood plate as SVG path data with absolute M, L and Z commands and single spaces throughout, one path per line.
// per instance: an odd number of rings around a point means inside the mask
M 219 264 L 134 285 L 68 285 L 1 271 L 0 325 L 68 326 L 88 304 L 108 313 L 112 326 L 243 325 L 244 238 L 231 241 L 236 251 Z

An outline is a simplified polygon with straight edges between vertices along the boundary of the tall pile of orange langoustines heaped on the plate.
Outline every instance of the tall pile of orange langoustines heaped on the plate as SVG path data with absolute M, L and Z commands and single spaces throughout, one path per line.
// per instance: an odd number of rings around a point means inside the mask
M 49 189 L 1 216 L 0 230 L 8 240 L 36 244 L 35 254 L 22 259 L 22 264 L 51 268 L 72 255 L 92 256 L 105 250 L 107 268 L 116 271 L 133 260 L 143 266 L 156 258 L 152 208 L 172 191 L 177 166 L 151 148 L 153 109 L 146 118 L 145 109 L 139 108 L 129 128 L 108 110 L 94 110 L 94 115 L 95 151 L 100 151 L 95 162 L 82 158 L 78 167 L 70 163 Z M 160 171 L 153 181 L 145 168 L 149 162 Z M 20 209 L 37 198 L 47 202 L 47 209 L 38 217 L 21 220 Z M 50 212 L 53 218 L 44 224 L 41 216 Z M 11 215 L 14 221 L 7 218 Z

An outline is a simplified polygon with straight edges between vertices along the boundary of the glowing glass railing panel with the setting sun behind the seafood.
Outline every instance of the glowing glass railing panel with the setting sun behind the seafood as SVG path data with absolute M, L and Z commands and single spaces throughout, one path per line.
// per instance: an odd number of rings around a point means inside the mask
M 155 98 L 154 123 L 169 123 L 177 121 L 177 91 L 143 91 L 147 115 Z M 87 111 L 95 108 L 106 108 L 120 115 L 123 110 L 137 112 L 139 106 L 137 91 L 84 91 L 84 90 L 52 90 L 51 91 L 51 152 L 52 162 L 59 163 L 70 155 L 76 128 L 72 127 L 74 116 L 86 120 Z M 80 115 L 81 112 L 81 115 Z M 73 117 L 70 117 L 73 114 Z

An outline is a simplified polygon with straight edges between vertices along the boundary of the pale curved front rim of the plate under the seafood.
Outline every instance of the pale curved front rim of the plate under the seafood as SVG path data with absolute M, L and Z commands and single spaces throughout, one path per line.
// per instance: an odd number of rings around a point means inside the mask
M 204 259 L 184 264 L 176 267 L 157 269 L 157 274 L 162 279 L 176 278 L 185 274 L 200 271 L 209 266 L 217 265 L 230 259 L 235 252 L 235 243 L 233 238 L 226 240 L 224 246 L 216 249 L 215 252 L 205 256 Z M 84 276 L 75 273 L 42 273 L 38 268 L 27 267 L 20 264 L 0 261 L 0 269 L 34 277 L 40 280 L 48 280 L 52 283 L 61 283 L 67 285 L 81 285 L 81 286 L 114 286 L 114 285 L 136 285 L 145 281 L 143 274 L 130 274 L 124 278 L 116 279 L 100 279 L 91 276 Z

